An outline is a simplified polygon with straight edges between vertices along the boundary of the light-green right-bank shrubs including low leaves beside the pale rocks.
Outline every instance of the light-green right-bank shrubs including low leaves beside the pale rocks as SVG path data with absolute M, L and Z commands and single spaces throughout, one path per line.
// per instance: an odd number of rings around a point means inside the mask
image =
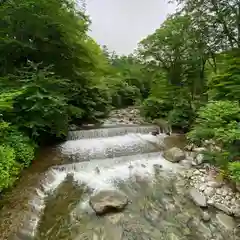
M 198 144 L 213 139 L 222 151 L 211 151 L 206 160 L 221 167 L 230 177 L 239 181 L 240 164 L 235 161 L 240 149 L 236 140 L 240 139 L 240 106 L 238 102 L 216 101 L 200 108 L 198 118 L 188 138 Z

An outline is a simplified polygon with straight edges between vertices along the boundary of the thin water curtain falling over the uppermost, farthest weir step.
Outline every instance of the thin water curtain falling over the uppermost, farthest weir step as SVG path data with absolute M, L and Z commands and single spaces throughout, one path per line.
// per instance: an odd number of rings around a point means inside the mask
M 91 138 L 106 138 L 114 136 L 123 136 L 129 133 L 147 134 L 155 131 L 158 126 L 125 126 L 115 128 L 100 128 L 91 130 L 70 131 L 68 134 L 68 140 L 77 139 L 91 139 Z

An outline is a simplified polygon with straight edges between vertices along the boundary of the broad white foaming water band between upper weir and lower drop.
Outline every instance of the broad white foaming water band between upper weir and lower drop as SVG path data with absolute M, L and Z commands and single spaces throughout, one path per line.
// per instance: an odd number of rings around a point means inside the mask
M 62 144 L 60 150 L 73 162 L 88 161 L 160 151 L 164 137 L 163 134 L 158 136 L 127 134 L 107 138 L 70 140 Z

